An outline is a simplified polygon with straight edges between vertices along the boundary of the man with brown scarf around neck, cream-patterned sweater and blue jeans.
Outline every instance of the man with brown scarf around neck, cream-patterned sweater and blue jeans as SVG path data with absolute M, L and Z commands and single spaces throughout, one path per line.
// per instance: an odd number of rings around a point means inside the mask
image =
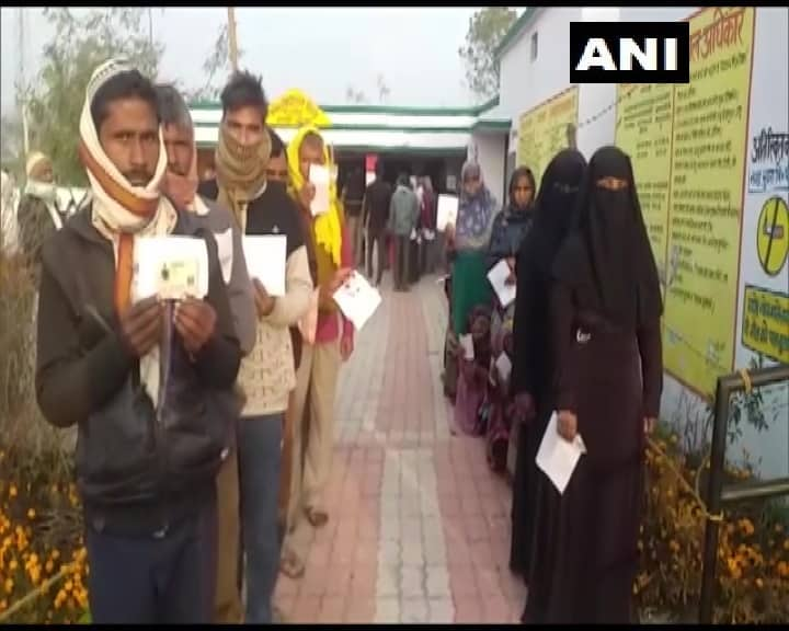
M 277 524 L 283 428 L 296 387 L 289 328 L 309 308 L 312 280 L 296 204 L 283 186 L 270 185 L 268 105 L 260 79 L 237 72 L 221 93 L 222 121 L 217 179 L 201 192 L 230 208 L 245 234 L 286 237 L 285 295 L 270 296 L 258 280 L 258 337 L 239 372 L 247 402 L 239 423 L 241 530 L 247 553 L 247 622 L 271 623 L 279 569 Z

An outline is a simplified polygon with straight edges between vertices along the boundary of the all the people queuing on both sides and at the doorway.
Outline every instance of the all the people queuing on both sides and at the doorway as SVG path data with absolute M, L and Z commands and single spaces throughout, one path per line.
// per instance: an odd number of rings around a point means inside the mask
M 28 194 L 55 228 L 28 248 L 36 394 L 49 423 L 78 427 L 100 623 L 274 621 L 278 573 L 305 571 L 297 532 L 331 518 L 338 377 L 354 351 L 332 296 L 361 241 L 378 284 L 393 237 L 396 290 L 413 266 L 437 264 L 430 179 L 401 175 L 392 191 L 379 168 L 364 194 L 355 181 L 342 196 L 331 183 L 315 217 L 310 167 L 332 163 L 320 130 L 285 146 L 248 72 L 221 104 L 215 173 L 201 182 L 182 95 L 113 59 L 91 77 L 79 121 L 90 202 L 58 222 L 52 165 L 28 161 Z M 243 238 L 262 234 L 286 237 L 284 295 L 248 272 Z M 135 241 L 165 236 L 205 243 L 204 299 L 137 295 Z M 496 471 L 517 432 L 511 570 L 529 585 L 523 619 L 628 622 L 644 436 L 662 390 L 662 296 L 630 159 L 604 147 L 586 163 L 565 149 L 538 191 L 516 169 L 504 209 L 469 162 L 444 237 L 455 425 L 484 436 Z M 507 305 L 488 282 L 502 261 L 516 287 Z M 554 413 L 561 437 L 581 435 L 587 450 L 563 494 L 535 463 Z

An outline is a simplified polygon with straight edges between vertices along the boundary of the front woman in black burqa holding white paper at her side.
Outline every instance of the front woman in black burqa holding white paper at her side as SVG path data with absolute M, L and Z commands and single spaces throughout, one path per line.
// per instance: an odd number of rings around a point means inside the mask
M 630 159 L 604 147 L 551 289 L 558 432 L 580 434 L 586 454 L 563 495 L 539 473 L 525 621 L 631 622 L 645 435 L 663 385 L 661 314 Z

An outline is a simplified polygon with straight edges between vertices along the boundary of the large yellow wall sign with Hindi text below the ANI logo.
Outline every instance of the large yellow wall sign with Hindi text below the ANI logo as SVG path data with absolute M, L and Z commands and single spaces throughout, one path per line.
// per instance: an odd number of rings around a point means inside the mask
M 616 142 L 663 271 L 665 369 L 705 394 L 734 365 L 754 20 L 706 8 L 689 19 L 689 84 L 618 87 Z

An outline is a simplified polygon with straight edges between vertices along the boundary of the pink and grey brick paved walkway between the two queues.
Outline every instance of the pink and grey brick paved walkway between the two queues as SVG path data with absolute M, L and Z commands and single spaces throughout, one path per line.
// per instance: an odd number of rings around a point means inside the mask
M 507 483 L 480 438 L 453 435 L 441 385 L 446 300 L 425 278 L 384 305 L 340 378 L 329 524 L 305 576 L 283 575 L 293 622 L 514 622 Z

